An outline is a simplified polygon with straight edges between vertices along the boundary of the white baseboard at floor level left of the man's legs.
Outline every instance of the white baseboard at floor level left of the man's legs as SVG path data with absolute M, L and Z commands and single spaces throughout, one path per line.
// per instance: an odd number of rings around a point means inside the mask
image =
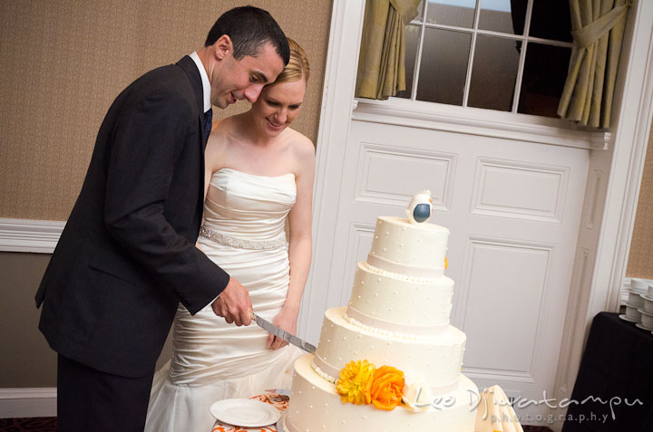
M 56 388 L 0 389 L 0 418 L 56 416 Z

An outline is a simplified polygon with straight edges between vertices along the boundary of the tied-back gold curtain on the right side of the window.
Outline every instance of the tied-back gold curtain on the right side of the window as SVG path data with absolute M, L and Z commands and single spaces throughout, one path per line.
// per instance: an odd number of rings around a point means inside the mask
M 570 67 L 558 114 L 608 128 L 629 0 L 570 0 Z

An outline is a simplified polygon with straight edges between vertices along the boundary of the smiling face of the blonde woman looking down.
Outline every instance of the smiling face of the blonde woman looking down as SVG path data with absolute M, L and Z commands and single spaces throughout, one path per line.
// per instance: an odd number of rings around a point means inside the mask
M 262 131 L 276 137 L 297 118 L 304 101 L 306 81 L 269 85 L 252 104 L 252 113 Z

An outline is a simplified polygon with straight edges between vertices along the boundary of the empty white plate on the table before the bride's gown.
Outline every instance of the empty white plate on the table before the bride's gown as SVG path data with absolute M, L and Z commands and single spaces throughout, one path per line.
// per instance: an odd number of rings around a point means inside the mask
M 256 399 L 222 399 L 210 407 L 219 421 L 242 427 L 263 427 L 277 423 L 281 413 L 277 408 Z

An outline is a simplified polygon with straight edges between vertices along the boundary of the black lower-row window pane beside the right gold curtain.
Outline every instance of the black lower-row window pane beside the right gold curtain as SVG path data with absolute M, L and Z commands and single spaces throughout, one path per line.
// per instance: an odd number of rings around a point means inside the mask
M 518 112 L 558 117 L 556 111 L 567 79 L 570 55 L 570 48 L 528 44 Z

